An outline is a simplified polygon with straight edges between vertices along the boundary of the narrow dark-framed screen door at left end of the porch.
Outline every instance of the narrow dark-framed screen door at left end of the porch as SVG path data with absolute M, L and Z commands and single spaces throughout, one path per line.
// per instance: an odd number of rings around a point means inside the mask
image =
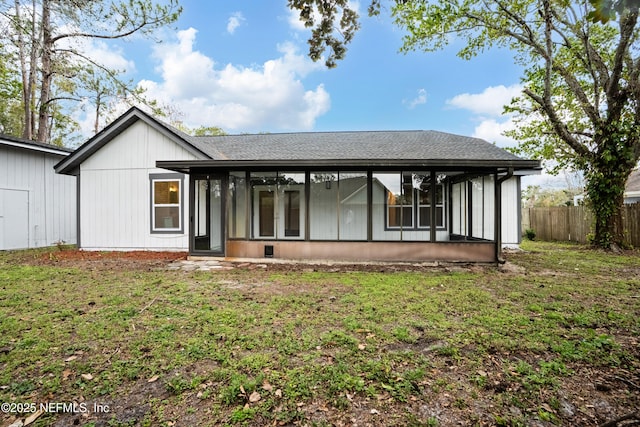
M 191 252 L 224 256 L 224 177 L 195 176 Z

